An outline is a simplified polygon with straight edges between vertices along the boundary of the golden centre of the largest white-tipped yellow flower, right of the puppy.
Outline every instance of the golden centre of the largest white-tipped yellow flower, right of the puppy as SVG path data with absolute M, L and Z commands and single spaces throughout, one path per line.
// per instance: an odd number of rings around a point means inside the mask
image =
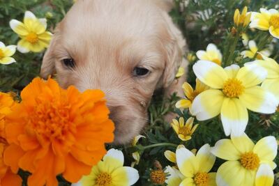
M 227 79 L 224 84 L 223 93 L 229 98 L 237 98 L 244 91 L 244 86 L 239 79 Z

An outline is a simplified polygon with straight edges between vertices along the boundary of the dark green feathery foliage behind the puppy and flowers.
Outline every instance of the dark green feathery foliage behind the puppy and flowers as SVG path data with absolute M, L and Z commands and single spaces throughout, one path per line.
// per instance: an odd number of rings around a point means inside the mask
M 181 3 L 187 3 L 188 6 L 181 8 Z M 259 8 L 274 8 L 278 4 L 276 0 L 260 0 L 260 1 L 241 1 L 241 0 L 195 0 L 184 1 L 176 0 L 175 6 L 170 13 L 174 22 L 178 24 L 183 31 L 188 42 L 188 47 L 191 52 L 195 53 L 199 49 L 205 49 L 206 46 L 213 42 L 223 52 L 224 58 L 229 55 L 229 43 L 231 43 L 230 31 L 233 26 L 233 15 L 236 8 L 242 9 L 248 6 L 250 11 L 258 11 Z M 9 22 L 11 19 L 22 20 L 24 12 L 31 10 L 37 17 L 47 17 L 48 30 L 54 31 L 58 22 L 63 19 L 72 1 L 68 0 L 0 0 L 0 41 L 6 45 L 16 45 L 19 40 L 18 36 L 10 29 Z M 269 40 L 263 39 L 266 33 L 258 31 L 248 31 L 248 35 L 259 43 L 259 49 L 264 49 L 268 46 Z M 278 61 L 279 59 L 279 44 L 278 41 L 273 42 L 274 49 L 271 57 Z M 247 62 L 240 56 L 240 52 L 245 47 L 241 40 L 236 42 L 236 50 L 232 54 L 231 63 Z M 12 65 L 0 64 L 0 91 L 15 91 L 20 93 L 22 88 L 31 82 L 31 79 L 39 75 L 40 62 L 43 59 L 43 54 L 15 54 L 17 63 Z M 189 75 L 187 81 L 195 85 L 195 75 L 193 75 L 192 64 L 190 64 Z M 183 144 L 189 149 L 199 149 L 204 144 L 213 146 L 219 139 L 226 138 L 223 132 L 223 127 L 220 118 L 216 117 L 210 121 L 199 122 L 199 127 L 193 134 L 193 139 L 190 141 L 181 141 L 169 123 L 166 123 L 164 116 L 169 111 L 174 111 L 179 116 L 189 118 L 188 111 L 181 112 L 174 109 L 174 104 L 179 98 L 173 95 L 170 99 L 164 99 L 162 93 L 154 96 L 151 106 L 149 107 L 149 125 L 144 130 L 145 139 L 140 139 L 137 146 L 121 146 L 126 158 L 126 165 L 130 166 L 133 162 L 131 154 L 139 151 L 141 155 L 140 164 L 135 166 L 140 172 L 140 180 L 136 185 L 152 185 L 149 182 L 150 169 L 154 169 L 154 160 L 158 160 L 163 167 L 171 164 L 164 157 L 165 150 L 175 151 L 177 145 Z M 262 137 L 273 135 L 279 139 L 279 112 L 273 115 L 259 115 L 250 112 L 249 123 L 246 129 L 248 136 L 253 141 L 258 141 Z M 198 123 L 195 121 L 195 123 Z M 175 144 L 175 146 L 174 146 Z M 213 167 L 213 171 L 217 171 L 218 166 L 223 163 L 218 160 Z M 279 158 L 276 158 L 276 163 L 279 164 Z M 277 168 L 275 172 L 278 172 Z M 20 173 L 26 177 L 26 174 Z M 59 185 L 69 185 L 66 180 L 59 177 Z M 24 184 L 25 185 L 25 184 Z

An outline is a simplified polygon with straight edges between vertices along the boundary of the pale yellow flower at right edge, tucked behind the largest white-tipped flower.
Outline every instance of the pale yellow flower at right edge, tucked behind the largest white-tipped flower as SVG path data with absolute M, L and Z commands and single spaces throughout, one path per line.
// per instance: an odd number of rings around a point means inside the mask
M 263 60 L 253 61 L 246 65 L 259 65 L 266 69 L 267 77 L 264 82 L 262 82 L 262 88 L 273 93 L 279 103 L 279 64 L 274 59 L 266 56 L 263 57 Z

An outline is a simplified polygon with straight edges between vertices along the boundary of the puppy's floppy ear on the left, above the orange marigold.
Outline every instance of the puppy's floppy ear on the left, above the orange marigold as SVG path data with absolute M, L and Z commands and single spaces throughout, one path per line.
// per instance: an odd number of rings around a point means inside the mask
M 40 77 L 47 79 L 49 75 L 54 74 L 55 70 L 55 59 L 54 59 L 54 45 L 56 45 L 55 36 L 53 36 L 52 41 L 50 42 L 50 46 L 47 48 L 47 52 L 45 52 L 45 56 L 43 56 L 43 63 L 40 67 Z

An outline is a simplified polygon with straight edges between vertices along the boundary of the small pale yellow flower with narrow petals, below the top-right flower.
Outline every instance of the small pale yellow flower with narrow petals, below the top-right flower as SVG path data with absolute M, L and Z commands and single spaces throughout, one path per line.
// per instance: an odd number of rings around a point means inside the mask
M 263 56 L 270 56 L 271 52 L 269 52 L 268 49 L 263 49 L 262 51 L 258 51 L 259 49 L 257 48 L 255 40 L 250 40 L 248 42 L 248 46 L 250 50 L 244 50 L 241 52 L 241 55 L 243 55 L 244 58 L 248 57 L 250 59 L 253 59 L 254 56 L 256 56 L 256 59 L 263 59 Z

